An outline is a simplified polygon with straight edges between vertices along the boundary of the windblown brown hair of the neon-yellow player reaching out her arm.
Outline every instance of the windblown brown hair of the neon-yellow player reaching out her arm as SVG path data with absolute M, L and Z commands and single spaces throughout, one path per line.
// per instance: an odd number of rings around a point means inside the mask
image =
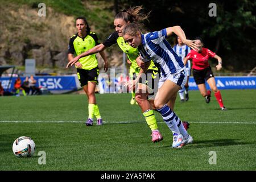
M 142 9 L 143 9 L 142 6 L 135 6 L 135 7 L 131 7 L 128 10 L 122 10 L 117 15 L 115 15 L 114 19 L 120 18 L 125 20 L 126 23 L 142 22 L 145 19 L 148 20 L 147 18 L 151 11 L 147 14 L 142 14 L 140 13 Z

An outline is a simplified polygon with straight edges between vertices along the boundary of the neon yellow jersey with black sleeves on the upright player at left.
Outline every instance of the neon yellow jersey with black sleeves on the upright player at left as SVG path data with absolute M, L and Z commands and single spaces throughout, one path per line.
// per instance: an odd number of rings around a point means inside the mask
M 81 53 L 92 49 L 98 44 L 100 43 L 98 42 L 97 35 L 93 32 L 87 34 L 85 38 L 81 38 L 78 34 L 76 34 L 73 35 L 69 40 L 68 53 L 75 53 L 75 55 L 80 55 Z M 86 70 L 91 70 L 98 66 L 96 54 L 82 57 L 79 59 L 79 62 L 82 64 L 82 69 Z

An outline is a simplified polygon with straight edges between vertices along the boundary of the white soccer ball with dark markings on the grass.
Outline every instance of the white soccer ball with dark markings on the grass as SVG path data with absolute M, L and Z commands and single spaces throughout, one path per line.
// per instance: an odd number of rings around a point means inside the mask
M 17 157 L 31 157 L 35 152 L 35 142 L 29 137 L 19 137 L 13 142 L 13 153 Z

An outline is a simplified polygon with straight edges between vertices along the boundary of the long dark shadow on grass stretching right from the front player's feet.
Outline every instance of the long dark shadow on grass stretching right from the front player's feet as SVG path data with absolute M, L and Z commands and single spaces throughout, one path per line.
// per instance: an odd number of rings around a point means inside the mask
M 236 145 L 245 145 L 245 144 L 253 144 L 253 143 L 256 143 L 256 142 L 241 142 L 241 141 L 238 141 L 238 139 L 195 140 L 193 141 L 192 144 L 188 144 L 187 146 L 184 146 L 183 149 L 236 146 Z M 165 148 L 170 146 L 163 146 L 163 147 Z

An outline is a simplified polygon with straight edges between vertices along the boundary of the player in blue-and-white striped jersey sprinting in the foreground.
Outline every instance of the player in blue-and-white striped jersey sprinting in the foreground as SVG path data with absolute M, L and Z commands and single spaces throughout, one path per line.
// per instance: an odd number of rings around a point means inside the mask
M 165 39 L 172 32 L 179 36 L 184 44 L 196 49 L 196 44 L 186 39 L 184 31 L 179 26 L 142 34 L 140 26 L 137 23 L 131 23 L 123 28 L 123 39 L 131 47 L 139 49 L 141 55 L 137 59 L 137 64 L 144 71 L 148 69 L 150 60 L 160 67 L 161 77 L 154 104 L 171 129 L 174 136 L 172 147 L 176 148 L 191 143 L 193 138 L 181 125 L 180 118 L 167 105 L 187 81 L 187 71 L 182 60 Z

